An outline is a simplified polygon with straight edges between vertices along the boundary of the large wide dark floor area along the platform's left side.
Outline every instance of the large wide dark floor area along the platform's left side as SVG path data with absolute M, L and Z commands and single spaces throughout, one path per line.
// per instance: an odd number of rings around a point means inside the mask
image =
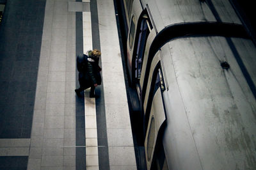
M 45 0 L 7 1 L 0 26 L 0 138 L 30 138 Z

